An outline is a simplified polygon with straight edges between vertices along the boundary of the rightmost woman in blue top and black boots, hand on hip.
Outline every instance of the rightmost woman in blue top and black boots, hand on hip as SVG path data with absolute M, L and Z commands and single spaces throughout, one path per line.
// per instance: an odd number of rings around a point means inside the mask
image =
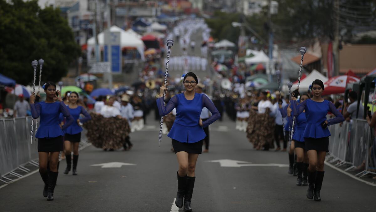
M 303 132 L 305 150 L 308 153 L 308 190 L 307 198 L 321 201 L 320 190 L 324 179 L 324 161 L 326 153 L 329 152 L 329 136 L 331 135 L 327 126 L 344 121 L 342 114 L 335 108 L 332 102 L 321 97 L 324 91 L 324 83 L 321 80 L 314 80 L 311 88 L 313 97 L 297 105 L 297 102 L 290 100 L 294 116 L 299 116 L 305 111 L 307 124 Z M 294 90 L 292 96 L 298 97 L 299 90 Z M 331 112 L 335 118 L 326 120 L 326 114 Z

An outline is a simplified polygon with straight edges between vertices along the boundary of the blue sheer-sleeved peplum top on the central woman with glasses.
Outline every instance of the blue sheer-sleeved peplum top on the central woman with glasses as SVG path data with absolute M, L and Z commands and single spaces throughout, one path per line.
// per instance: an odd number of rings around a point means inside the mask
M 179 93 L 171 98 L 166 106 L 163 104 L 163 97 L 156 101 L 161 116 L 167 115 L 176 108 L 176 118 L 167 136 L 182 143 L 195 143 L 203 140 L 206 137 L 203 128 L 220 117 L 213 102 L 202 93 L 195 93 L 192 100 L 187 100 L 184 93 Z M 212 116 L 200 126 L 199 120 L 203 107 L 208 108 Z

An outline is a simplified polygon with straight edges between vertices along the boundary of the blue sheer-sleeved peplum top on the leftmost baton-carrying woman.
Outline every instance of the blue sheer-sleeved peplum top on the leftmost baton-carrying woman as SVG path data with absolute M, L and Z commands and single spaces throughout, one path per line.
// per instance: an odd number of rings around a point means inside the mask
M 36 104 L 30 104 L 30 107 L 33 119 L 38 119 L 39 116 L 41 117 L 39 128 L 35 135 L 36 138 L 55 138 L 64 135 L 62 129 L 67 128 L 74 121 L 64 102 L 46 103 L 43 101 Z M 60 113 L 67 118 L 67 121 L 62 128 L 59 126 Z

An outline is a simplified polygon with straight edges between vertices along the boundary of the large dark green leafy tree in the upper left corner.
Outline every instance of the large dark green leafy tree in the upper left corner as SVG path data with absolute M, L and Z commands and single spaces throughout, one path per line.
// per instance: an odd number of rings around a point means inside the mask
M 44 59 L 42 81 L 56 82 L 67 75 L 68 65 L 80 55 L 60 10 L 41 9 L 37 2 L 0 0 L 0 70 L 20 84 L 32 83 L 34 59 Z

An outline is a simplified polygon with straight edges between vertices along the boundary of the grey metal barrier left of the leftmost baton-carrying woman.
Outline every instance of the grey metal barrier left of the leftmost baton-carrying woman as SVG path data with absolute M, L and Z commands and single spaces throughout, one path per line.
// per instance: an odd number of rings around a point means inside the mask
M 31 144 L 31 116 L 0 120 L 0 176 L 38 158 L 38 143 Z

